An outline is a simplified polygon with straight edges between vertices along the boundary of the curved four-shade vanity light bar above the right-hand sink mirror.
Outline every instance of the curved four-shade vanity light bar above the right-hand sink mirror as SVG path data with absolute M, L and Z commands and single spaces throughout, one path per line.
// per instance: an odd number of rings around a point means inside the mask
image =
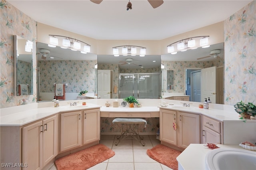
M 174 43 L 171 43 L 170 45 L 167 45 L 167 52 L 171 54 L 176 54 L 178 51 L 186 51 L 187 49 L 196 49 L 197 47 L 210 47 L 208 44 L 208 37 L 210 36 L 196 36 L 196 37 L 190 37 L 190 38 L 185 38 L 179 41 L 176 41 Z M 197 38 L 201 38 L 200 42 L 197 44 L 196 40 Z M 186 42 L 186 40 L 188 40 Z M 177 48 L 175 49 L 174 44 L 177 43 Z

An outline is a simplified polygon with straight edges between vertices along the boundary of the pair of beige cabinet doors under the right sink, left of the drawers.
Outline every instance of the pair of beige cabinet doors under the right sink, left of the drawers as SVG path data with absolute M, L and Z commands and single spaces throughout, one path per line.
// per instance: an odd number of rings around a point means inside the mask
M 200 143 L 200 115 L 161 108 L 160 140 L 161 143 L 166 142 L 179 148 Z

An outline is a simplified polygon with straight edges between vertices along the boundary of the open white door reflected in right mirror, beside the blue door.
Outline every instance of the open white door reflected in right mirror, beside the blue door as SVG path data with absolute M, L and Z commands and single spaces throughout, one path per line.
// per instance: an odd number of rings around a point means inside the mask
M 216 103 L 216 67 L 201 69 L 201 102 L 208 97 Z

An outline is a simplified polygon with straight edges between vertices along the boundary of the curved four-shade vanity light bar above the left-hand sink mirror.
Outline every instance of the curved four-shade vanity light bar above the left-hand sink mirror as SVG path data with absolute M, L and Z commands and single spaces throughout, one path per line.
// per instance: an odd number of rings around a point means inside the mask
M 62 46 L 61 46 L 62 48 L 68 48 L 68 49 L 72 49 L 74 51 L 80 50 L 80 52 L 84 53 L 84 54 L 90 52 L 91 45 L 89 45 L 88 43 L 82 42 L 81 40 L 78 40 L 76 38 L 71 38 L 71 37 L 67 37 L 67 36 L 51 35 L 51 34 L 49 34 L 49 36 L 51 36 L 49 45 L 52 45 L 52 46 L 58 45 L 58 38 L 56 38 L 56 37 L 62 37 L 62 38 L 64 38 L 64 39 L 62 39 Z M 81 47 L 82 43 L 84 44 L 84 47 Z

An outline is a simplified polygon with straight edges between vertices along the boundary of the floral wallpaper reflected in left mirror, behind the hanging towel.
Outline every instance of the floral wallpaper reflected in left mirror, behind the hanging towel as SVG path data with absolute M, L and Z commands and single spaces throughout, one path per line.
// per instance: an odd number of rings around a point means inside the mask
M 38 61 L 40 68 L 40 92 L 54 92 L 54 83 L 68 83 L 66 93 L 87 90 L 94 93 L 97 60 L 57 60 Z

